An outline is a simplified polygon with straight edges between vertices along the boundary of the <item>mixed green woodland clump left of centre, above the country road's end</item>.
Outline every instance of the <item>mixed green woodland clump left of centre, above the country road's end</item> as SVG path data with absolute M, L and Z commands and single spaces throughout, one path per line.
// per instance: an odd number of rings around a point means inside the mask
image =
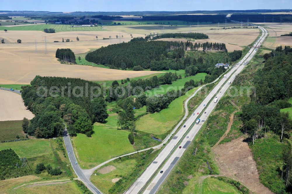
M 31 85 L 22 87 L 25 106 L 36 115 L 25 133 L 37 138 L 57 137 L 66 122 L 69 134 L 91 136 L 93 122 L 104 122 L 108 116 L 104 98 L 94 97 L 97 91 L 91 92 L 91 88 L 100 85 L 79 78 L 36 76 Z

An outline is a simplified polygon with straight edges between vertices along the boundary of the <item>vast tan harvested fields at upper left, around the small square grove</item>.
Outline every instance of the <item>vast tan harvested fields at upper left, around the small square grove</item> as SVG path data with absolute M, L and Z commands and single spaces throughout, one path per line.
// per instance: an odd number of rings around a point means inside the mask
M 154 71 L 122 71 L 117 69 L 105 69 L 99 67 L 60 64 L 55 58 L 55 52 L 58 48 L 70 48 L 74 53 L 86 53 L 90 48 L 100 48 L 110 43 L 119 43 L 119 39 L 111 40 L 93 40 L 95 36 L 98 39 L 102 37 L 115 37 L 119 32 L 112 31 L 85 31 L 85 32 L 58 32 L 47 34 L 40 31 L 9 31 L 0 32 L 0 38 L 7 42 L 15 42 L 21 39 L 23 43 L 5 43 L 0 47 L 0 84 L 29 84 L 36 76 L 61 76 L 82 78 L 90 81 L 102 81 L 113 79 L 125 79 L 154 74 Z M 45 54 L 45 43 L 42 42 L 43 36 L 47 36 L 47 50 Z M 121 41 L 131 40 L 130 34 L 121 33 L 124 38 Z M 76 37 L 80 41 L 76 41 Z M 133 34 L 133 36 L 140 36 Z M 69 38 L 73 42 L 57 42 Z M 37 41 L 37 53 L 35 52 L 35 43 Z M 84 40 L 84 41 L 83 41 Z M 26 43 L 25 43 L 26 42 Z

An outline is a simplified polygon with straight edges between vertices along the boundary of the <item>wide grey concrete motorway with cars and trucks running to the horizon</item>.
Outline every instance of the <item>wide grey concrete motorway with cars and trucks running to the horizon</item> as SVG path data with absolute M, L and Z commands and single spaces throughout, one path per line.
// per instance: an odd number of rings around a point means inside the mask
M 262 31 L 262 35 L 253 46 L 260 46 L 260 42 L 267 36 L 267 30 L 259 27 Z M 256 54 L 256 49 L 251 48 L 245 57 L 237 64 L 235 64 L 230 71 L 226 73 L 226 78 L 220 80 L 220 82 L 213 88 L 213 90 L 207 95 L 203 102 L 194 111 L 195 116 L 190 116 L 181 127 L 175 136 L 169 141 L 164 149 L 159 153 L 157 158 L 147 167 L 147 169 L 141 174 L 141 176 L 132 184 L 132 186 L 125 192 L 127 194 L 142 193 L 154 194 L 159 189 L 163 181 L 166 179 L 168 174 L 171 172 L 179 158 L 183 155 L 188 145 L 194 139 L 197 132 L 201 129 L 204 121 L 208 118 L 217 103 L 214 103 L 215 97 L 220 98 L 229 88 L 227 81 L 233 82 L 235 76 L 239 74 L 242 69 L 248 64 L 248 61 Z M 204 104 L 206 106 L 204 106 Z M 206 112 L 206 113 L 204 113 Z M 199 115 L 197 115 L 199 113 Z M 194 122 L 197 118 L 201 119 L 201 122 L 196 125 Z M 186 137 L 189 138 L 186 138 Z M 182 148 L 179 148 L 182 146 Z M 163 173 L 158 173 L 162 170 Z

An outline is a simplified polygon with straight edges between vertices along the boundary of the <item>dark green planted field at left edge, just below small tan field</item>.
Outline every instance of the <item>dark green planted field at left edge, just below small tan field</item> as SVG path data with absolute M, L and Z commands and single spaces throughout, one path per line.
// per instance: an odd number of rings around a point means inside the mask
M 17 135 L 20 139 L 25 138 L 22 131 L 22 120 L 0 121 L 0 142 L 15 140 Z

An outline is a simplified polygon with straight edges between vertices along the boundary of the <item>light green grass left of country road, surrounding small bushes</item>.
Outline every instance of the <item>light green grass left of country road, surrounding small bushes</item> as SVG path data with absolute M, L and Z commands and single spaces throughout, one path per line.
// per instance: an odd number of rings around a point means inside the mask
M 60 144 L 59 144 L 60 142 Z M 52 167 L 60 167 L 63 172 L 59 176 L 51 176 L 46 171 L 38 174 L 43 179 L 58 179 L 63 177 L 73 177 L 69 160 L 64 149 L 62 138 L 57 139 L 29 139 L 26 141 L 14 141 L 0 143 L 0 150 L 13 149 L 21 158 L 27 158 L 28 165 L 32 169 L 32 174 L 38 163 L 50 164 Z M 66 157 L 65 157 L 66 156 Z

